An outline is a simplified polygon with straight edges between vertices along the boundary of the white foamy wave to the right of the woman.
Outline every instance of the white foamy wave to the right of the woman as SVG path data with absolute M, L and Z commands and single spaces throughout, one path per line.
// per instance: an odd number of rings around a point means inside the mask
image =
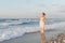
M 46 25 L 46 29 L 56 29 L 56 28 L 63 28 L 65 27 L 65 22 L 61 22 L 61 23 L 55 23 L 52 25 Z

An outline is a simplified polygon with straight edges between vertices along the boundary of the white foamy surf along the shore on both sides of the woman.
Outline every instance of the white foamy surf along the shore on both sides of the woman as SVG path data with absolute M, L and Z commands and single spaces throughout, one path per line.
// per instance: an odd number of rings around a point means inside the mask
M 61 27 L 65 27 L 65 22 L 58 23 L 58 24 L 53 24 L 53 25 L 48 25 L 46 27 L 46 30 L 60 29 Z M 25 28 L 15 27 L 15 28 L 11 28 L 11 29 L 2 29 L 2 30 L 0 30 L 0 41 L 23 35 L 26 32 L 28 33 L 28 32 L 37 32 L 37 31 L 39 31 L 39 27 L 25 27 Z

